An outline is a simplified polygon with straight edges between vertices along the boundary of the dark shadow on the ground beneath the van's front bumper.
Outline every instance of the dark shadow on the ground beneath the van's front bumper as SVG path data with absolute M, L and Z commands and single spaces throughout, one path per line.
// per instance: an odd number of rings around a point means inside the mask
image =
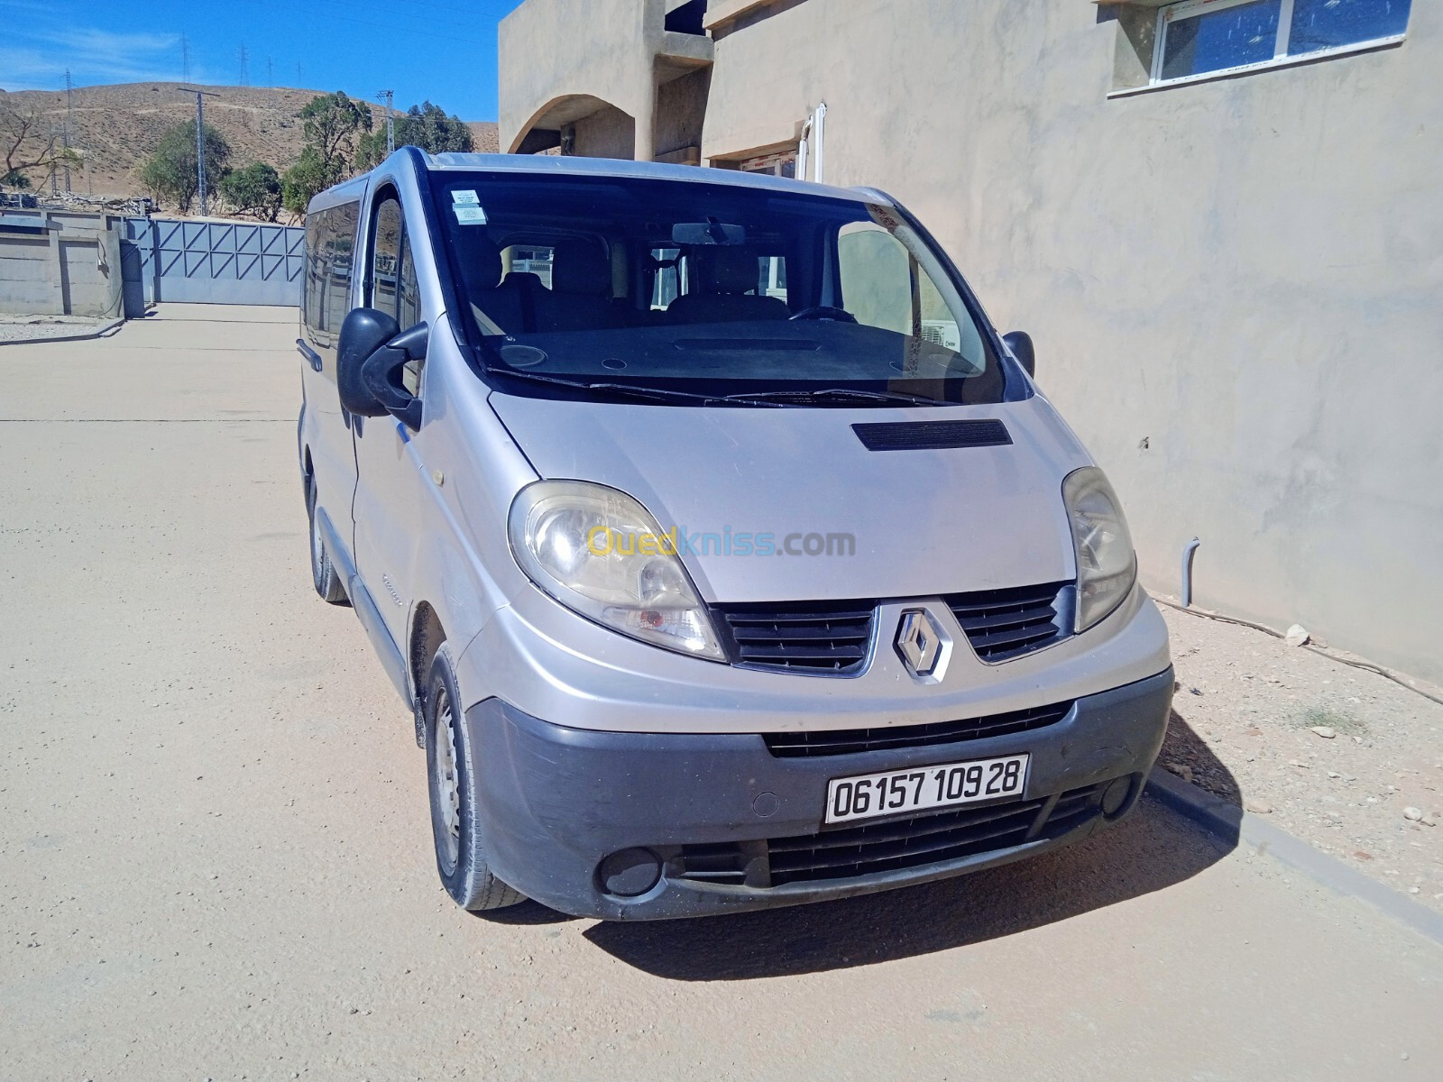
M 1169 749 L 1238 792 L 1228 769 L 1173 713 Z M 1237 845 L 1205 834 L 1150 796 L 1084 843 L 970 876 L 866 897 L 756 913 L 599 922 L 587 941 L 638 969 L 678 981 L 736 981 L 873 965 L 1026 932 L 1165 890 Z M 535 903 L 488 915 L 505 923 L 567 920 Z

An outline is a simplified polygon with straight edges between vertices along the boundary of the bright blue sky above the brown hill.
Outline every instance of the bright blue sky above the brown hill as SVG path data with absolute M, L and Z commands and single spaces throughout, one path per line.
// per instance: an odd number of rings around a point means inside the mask
M 429 98 L 496 118 L 496 23 L 519 0 L 0 0 L 0 88 L 62 89 L 182 78 L 343 89 L 405 108 Z M 270 79 L 267 79 L 270 61 Z M 297 78 L 296 65 L 300 65 Z

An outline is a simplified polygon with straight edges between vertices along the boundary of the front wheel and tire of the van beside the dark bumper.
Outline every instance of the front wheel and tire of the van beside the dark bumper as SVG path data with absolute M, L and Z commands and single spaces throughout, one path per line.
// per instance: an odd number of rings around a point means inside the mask
M 450 651 L 442 643 L 421 701 L 436 870 L 446 893 L 462 909 L 502 909 L 525 902 L 525 894 L 491 874 L 486 864 L 476 809 L 473 765 L 478 749 L 463 724 L 460 701 Z

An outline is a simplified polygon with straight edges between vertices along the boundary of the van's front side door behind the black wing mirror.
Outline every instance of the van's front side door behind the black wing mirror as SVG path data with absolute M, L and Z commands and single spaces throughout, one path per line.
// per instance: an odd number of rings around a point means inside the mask
M 405 218 L 394 189 L 382 188 L 371 215 L 364 303 L 395 317 L 403 330 L 421 320 Z M 408 390 L 420 395 L 421 365 L 407 369 Z M 429 499 L 426 467 L 411 433 L 390 414 L 358 417 L 354 423 L 356 454 L 355 557 L 356 570 L 371 591 L 395 645 L 405 654 L 413 603 L 411 563 L 418 524 Z

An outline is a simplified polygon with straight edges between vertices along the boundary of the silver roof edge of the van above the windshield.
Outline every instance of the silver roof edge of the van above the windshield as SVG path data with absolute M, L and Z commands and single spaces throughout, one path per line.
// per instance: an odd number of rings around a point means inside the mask
M 427 154 L 416 147 L 398 147 L 397 154 L 418 154 L 424 167 L 431 172 L 483 172 L 483 173 L 531 173 L 547 176 L 610 176 L 636 180 L 680 180 L 684 183 L 730 185 L 733 188 L 759 188 L 772 192 L 794 192 L 797 195 L 847 199 L 866 199 L 873 203 L 890 205 L 882 192 L 861 188 L 834 188 L 810 180 L 791 180 L 766 173 L 745 173 L 740 169 L 704 169 L 698 166 L 672 166 L 658 162 L 631 162 L 613 157 L 571 157 L 560 154 Z M 390 159 L 387 159 L 390 162 Z M 382 163 L 384 166 L 385 163 Z M 378 166 L 382 167 L 382 166 Z M 354 199 L 365 188 L 367 173 L 351 177 L 315 198 L 312 209 L 322 209 L 348 198 Z

